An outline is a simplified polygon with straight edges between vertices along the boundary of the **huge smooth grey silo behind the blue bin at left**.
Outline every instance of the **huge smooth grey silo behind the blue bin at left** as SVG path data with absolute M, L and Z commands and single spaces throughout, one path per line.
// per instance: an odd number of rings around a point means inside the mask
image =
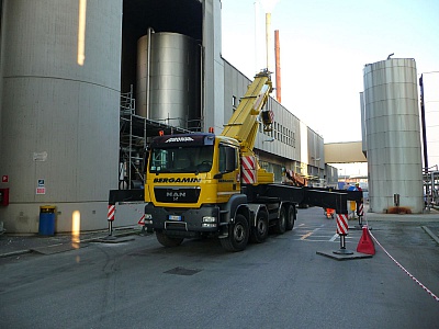
M 5 0 L 1 33 L 5 228 L 36 232 L 41 205 L 56 206 L 56 231 L 71 230 L 74 212 L 81 229 L 105 227 L 117 186 L 122 0 Z

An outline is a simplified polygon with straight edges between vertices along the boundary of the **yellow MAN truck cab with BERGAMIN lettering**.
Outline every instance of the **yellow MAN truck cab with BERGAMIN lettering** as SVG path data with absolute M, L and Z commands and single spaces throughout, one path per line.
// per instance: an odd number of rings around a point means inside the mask
M 239 144 L 210 133 L 155 137 L 145 182 L 145 226 L 165 246 L 222 234 L 240 191 Z M 232 203 L 233 204 L 233 203 Z

